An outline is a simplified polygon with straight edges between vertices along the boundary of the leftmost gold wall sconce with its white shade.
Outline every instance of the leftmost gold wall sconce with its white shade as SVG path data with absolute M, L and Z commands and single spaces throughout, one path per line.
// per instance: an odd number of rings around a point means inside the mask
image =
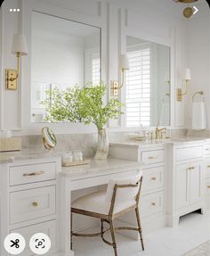
M 17 79 L 20 75 L 20 57 L 28 55 L 26 37 L 22 34 L 14 34 L 12 42 L 12 54 L 17 57 L 17 70 L 5 70 L 5 87 L 7 90 L 17 90 Z

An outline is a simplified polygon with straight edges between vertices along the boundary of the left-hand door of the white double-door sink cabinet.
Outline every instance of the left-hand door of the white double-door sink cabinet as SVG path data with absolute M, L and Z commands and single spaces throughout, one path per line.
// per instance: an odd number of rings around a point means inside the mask
M 176 166 L 175 171 L 175 202 L 176 209 L 186 206 L 190 202 L 189 191 L 189 165 L 180 164 Z

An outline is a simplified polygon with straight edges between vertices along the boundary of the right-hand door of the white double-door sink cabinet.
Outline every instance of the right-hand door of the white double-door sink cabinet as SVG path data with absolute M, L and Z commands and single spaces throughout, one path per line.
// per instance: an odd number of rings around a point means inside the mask
M 202 199 L 203 190 L 203 169 L 202 165 L 194 163 L 190 165 L 190 203 L 198 202 Z

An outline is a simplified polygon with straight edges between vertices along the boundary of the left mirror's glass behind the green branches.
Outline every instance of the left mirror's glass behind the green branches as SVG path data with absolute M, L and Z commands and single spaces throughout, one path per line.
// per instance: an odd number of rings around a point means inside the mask
M 32 12 L 31 121 L 43 122 L 46 90 L 101 81 L 101 29 Z

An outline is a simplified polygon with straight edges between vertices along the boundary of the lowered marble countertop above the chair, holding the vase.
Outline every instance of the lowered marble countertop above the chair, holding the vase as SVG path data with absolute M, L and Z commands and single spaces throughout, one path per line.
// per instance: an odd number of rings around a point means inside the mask
M 100 176 L 107 175 L 115 172 L 123 172 L 128 169 L 139 169 L 141 167 L 138 161 L 128 161 L 117 158 L 108 158 L 106 160 L 91 160 L 89 164 L 62 167 L 61 175 L 69 177 L 71 180 L 77 180 L 81 178 L 91 178 L 98 174 Z

